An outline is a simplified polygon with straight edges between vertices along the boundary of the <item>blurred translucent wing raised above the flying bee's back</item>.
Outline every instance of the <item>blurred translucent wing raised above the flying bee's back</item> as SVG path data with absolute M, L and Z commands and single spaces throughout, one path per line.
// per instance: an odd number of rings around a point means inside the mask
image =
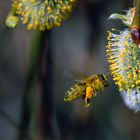
M 81 72 L 69 72 L 69 71 L 65 71 L 63 72 L 63 75 L 67 78 L 70 79 L 74 82 L 78 82 L 78 83 L 84 83 L 86 82 L 87 79 L 87 75 L 81 73 Z

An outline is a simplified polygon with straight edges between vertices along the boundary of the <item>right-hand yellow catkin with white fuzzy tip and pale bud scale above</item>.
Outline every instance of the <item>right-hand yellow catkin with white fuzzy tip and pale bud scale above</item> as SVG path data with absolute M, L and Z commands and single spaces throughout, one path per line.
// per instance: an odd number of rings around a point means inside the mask
M 111 18 L 118 17 L 130 27 L 132 10 L 127 15 L 113 14 Z M 140 49 L 132 39 L 131 29 L 109 31 L 106 52 L 113 80 L 125 104 L 135 112 L 140 111 Z

